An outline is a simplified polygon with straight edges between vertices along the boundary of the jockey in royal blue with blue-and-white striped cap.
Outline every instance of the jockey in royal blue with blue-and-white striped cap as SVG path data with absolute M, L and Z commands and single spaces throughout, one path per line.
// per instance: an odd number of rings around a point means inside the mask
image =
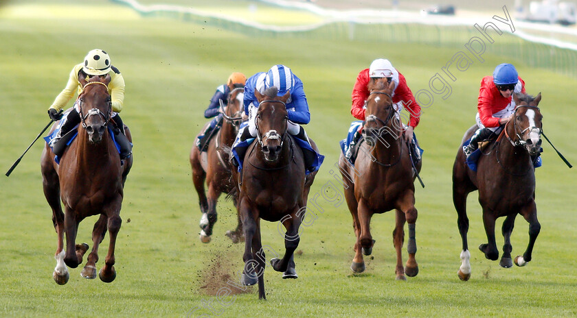
M 317 168 L 315 165 L 317 154 L 313 148 L 310 147 L 310 141 L 308 140 L 308 136 L 306 136 L 304 128 L 300 126 L 310 121 L 310 112 L 308 112 L 308 103 L 306 102 L 306 95 L 304 95 L 303 84 L 299 77 L 294 75 L 291 69 L 284 65 L 275 65 L 271 67 L 267 73 L 256 73 L 247 79 L 247 84 L 245 85 L 245 114 L 249 117 L 249 123 L 247 126 L 241 127 L 234 142 L 233 149 L 236 151 L 236 154 L 238 154 L 240 160 L 242 160 L 246 148 L 240 149 L 240 146 L 237 147 L 237 145 L 249 138 L 256 137 L 257 134 L 256 112 L 258 101 L 254 96 L 254 90 L 256 89 L 261 94 L 264 94 L 264 90 L 272 86 L 278 88 L 278 96 L 284 96 L 286 92 L 291 92 L 291 96 L 288 97 L 288 101 L 286 101 L 286 110 L 288 111 L 287 132 L 295 136 L 295 138 L 304 140 L 304 142 L 308 144 L 310 149 L 303 148 L 305 169 L 308 172 L 315 171 Z M 232 158 L 233 164 L 238 166 L 235 156 Z

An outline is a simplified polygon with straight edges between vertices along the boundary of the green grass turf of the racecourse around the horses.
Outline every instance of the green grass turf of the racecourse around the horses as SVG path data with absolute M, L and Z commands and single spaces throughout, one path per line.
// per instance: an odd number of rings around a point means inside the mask
M 37 2 L 38 3 L 38 2 Z M 295 256 L 298 280 L 282 280 L 267 267 L 267 302 L 256 287 L 249 293 L 213 297 L 238 280 L 242 245 L 224 232 L 236 225 L 230 202 L 218 206 L 212 243 L 198 238 L 200 212 L 190 182 L 188 153 L 206 120 L 202 112 L 232 71 L 251 75 L 276 63 L 291 67 L 304 81 L 312 113 L 306 126 L 326 155 L 310 197 L 339 191 L 331 184 L 333 164 L 352 117 L 350 92 L 359 70 L 386 57 L 416 92 L 457 49 L 386 42 L 337 42 L 298 38 L 247 38 L 223 29 L 170 19 L 142 19 L 124 7 L 100 1 L 102 19 L 80 19 L 83 5 L 56 3 L 59 16 L 8 14 L 0 7 L 0 167 L 8 170 L 48 122 L 46 110 L 64 87 L 71 67 L 95 47 L 109 51 L 126 80 L 122 117 L 133 132 L 135 164 L 126 182 L 122 229 L 117 240 L 117 279 L 111 284 L 80 278 L 70 269 L 67 285 L 52 280 L 56 234 L 43 197 L 39 157 L 34 145 L 10 178 L 0 178 L 0 316 L 2 317 L 574 317 L 577 202 L 574 169 L 569 170 L 544 145 L 544 167 L 536 171 L 541 234 L 533 260 L 523 268 L 502 269 L 476 249 L 486 242 L 476 195 L 469 199 L 469 244 L 473 273 L 457 278 L 460 236 L 451 201 L 451 167 L 462 134 L 476 111 L 479 81 L 504 60 L 517 64 L 528 93 L 543 93 L 541 110 L 547 136 L 574 164 L 574 87 L 577 81 L 515 60 L 486 54 L 458 73 L 453 94 L 424 110 L 418 134 L 425 158 L 417 188 L 417 260 L 420 273 L 408 282 L 394 280 L 394 214 L 376 215 L 374 259 L 353 276 L 354 234 L 342 198 L 317 200 L 324 209 L 302 232 Z M 90 8 L 92 8 L 92 6 Z M 14 7 L 10 7 L 14 8 Z M 42 8 L 41 12 L 42 12 Z M 63 11 L 64 10 L 64 11 Z M 126 20 L 123 16 L 126 15 Z M 78 16 L 73 18 L 73 16 Z M 130 222 L 128 222 L 130 219 Z M 80 224 L 78 242 L 91 244 L 95 217 Z M 500 225 L 497 244 L 502 245 Z M 263 245 L 282 252 L 276 223 L 262 223 Z M 512 235 L 513 255 L 528 242 L 521 217 Z M 100 248 L 102 267 L 108 239 Z M 405 261 L 406 249 L 403 250 Z M 268 253 L 267 258 L 273 253 Z M 216 269 L 216 265 L 221 268 Z M 207 287 L 210 285 L 210 288 Z M 205 288 L 203 288 L 205 287 Z M 232 289 L 232 288 L 231 288 Z

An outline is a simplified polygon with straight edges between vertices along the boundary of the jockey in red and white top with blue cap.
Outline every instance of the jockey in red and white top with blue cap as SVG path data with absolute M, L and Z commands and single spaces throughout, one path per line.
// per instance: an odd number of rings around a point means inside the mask
M 499 134 L 510 121 L 515 111 L 513 93 L 525 93 L 525 82 L 511 64 L 499 64 L 493 71 L 493 76 L 483 77 L 475 117 L 480 128 L 471 137 L 471 142 L 463 146 L 465 156 L 468 157 L 477 150 L 479 141 Z

